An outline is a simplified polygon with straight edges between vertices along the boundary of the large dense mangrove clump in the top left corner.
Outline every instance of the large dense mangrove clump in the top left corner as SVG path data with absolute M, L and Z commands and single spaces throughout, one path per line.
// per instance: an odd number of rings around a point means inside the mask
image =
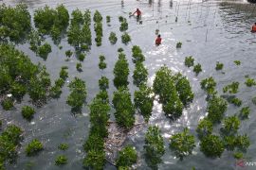
M 0 11 L 0 39 L 11 42 L 24 42 L 31 29 L 31 17 L 27 5 L 18 4 L 16 7 L 7 7 L 5 4 L 2 4 Z

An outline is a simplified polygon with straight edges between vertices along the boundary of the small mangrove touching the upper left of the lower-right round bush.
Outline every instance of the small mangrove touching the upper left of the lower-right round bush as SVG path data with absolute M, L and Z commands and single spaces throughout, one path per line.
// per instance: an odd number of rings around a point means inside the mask
M 213 125 L 209 119 L 204 118 L 200 120 L 198 126 L 196 127 L 198 138 L 202 140 L 204 137 L 210 135 L 212 132 L 212 129 L 213 129 Z

